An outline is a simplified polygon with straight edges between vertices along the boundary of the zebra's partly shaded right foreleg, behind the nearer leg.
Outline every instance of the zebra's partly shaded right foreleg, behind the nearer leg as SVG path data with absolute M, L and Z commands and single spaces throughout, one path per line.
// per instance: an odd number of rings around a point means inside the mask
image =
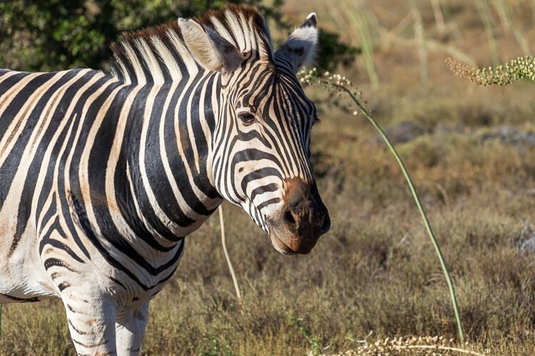
M 115 330 L 119 356 L 139 354 L 147 321 L 148 303 L 128 311 L 125 315 L 118 315 Z

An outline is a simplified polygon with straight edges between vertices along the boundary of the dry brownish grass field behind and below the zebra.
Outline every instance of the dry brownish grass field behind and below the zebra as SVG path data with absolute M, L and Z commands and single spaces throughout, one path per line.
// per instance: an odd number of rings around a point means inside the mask
M 462 37 L 454 32 L 440 37 L 431 3 L 417 1 L 427 38 L 459 48 L 478 66 L 489 65 L 474 6 L 441 3 L 445 25 L 454 23 Z M 285 11 L 317 11 L 322 25 L 335 27 L 322 22 L 326 2 L 302 4 L 288 1 Z M 361 4 L 388 28 L 410 11 L 406 1 Z M 516 28 L 532 25 L 528 5 Z M 501 53 L 520 56 L 514 36 L 498 30 Z M 526 31 L 531 40 L 533 34 Z M 444 66 L 447 54 L 428 54 L 426 89 L 419 85 L 417 48 L 380 43 L 374 53 L 380 91 L 372 91 L 359 65 L 350 71 L 352 81 L 360 83 L 384 127 L 406 120 L 422 127 L 422 135 L 397 147 L 457 288 L 469 345 L 448 341 L 448 347 L 535 355 L 535 259 L 515 246 L 524 224 L 535 224 L 535 145 L 489 135 L 505 126 L 535 132 L 535 88 L 469 86 Z M 323 93 L 310 95 L 325 99 Z M 232 216 L 227 243 L 242 302 L 220 248 L 216 215 L 188 238 L 178 273 L 151 304 L 144 354 L 337 354 L 358 350 L 357 341 L 371 330 L 370 347 L 386 337 L 456 337 L 444 277 L 396 162 L 376 143 L 364 117 L 332 105 L 320 108 L 312 151 L 332 217 L 330 233 L 308 256 L 282 256 L 243 211 L 225 206 L 225 215 Z M 3 322 L 0 355 L 73 353 L 58 301 L 7 305 Z

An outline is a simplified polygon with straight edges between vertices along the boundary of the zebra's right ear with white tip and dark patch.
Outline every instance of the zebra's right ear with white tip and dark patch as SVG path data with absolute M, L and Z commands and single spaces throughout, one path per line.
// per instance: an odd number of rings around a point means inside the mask
M 314 62 L 317 48 L 316 26 L 317 16 L 315 12 L 312 12 L 275 52 L 275 56 L 290 62 L 294 73 L 297 73 L 301 66 L 310 66 Z

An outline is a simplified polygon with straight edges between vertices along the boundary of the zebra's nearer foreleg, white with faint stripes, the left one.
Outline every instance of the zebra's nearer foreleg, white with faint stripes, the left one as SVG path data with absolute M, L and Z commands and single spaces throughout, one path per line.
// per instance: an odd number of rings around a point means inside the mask
M 78 355 L 117 355 L 116 307 L 107 296 L 92 297 L 63 297 L 76 352 Z

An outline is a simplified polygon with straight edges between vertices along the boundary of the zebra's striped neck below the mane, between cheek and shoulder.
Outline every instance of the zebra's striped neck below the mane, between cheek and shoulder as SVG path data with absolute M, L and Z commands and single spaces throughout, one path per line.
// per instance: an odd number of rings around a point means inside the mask
M 218 75 L 199 72 L 176 83 L 136 87 L 125 99 L 131 115 L 115 185 L 125 219 L 141 239 L 170 248 L 223 201 L 209 168 L 218 88 Z

